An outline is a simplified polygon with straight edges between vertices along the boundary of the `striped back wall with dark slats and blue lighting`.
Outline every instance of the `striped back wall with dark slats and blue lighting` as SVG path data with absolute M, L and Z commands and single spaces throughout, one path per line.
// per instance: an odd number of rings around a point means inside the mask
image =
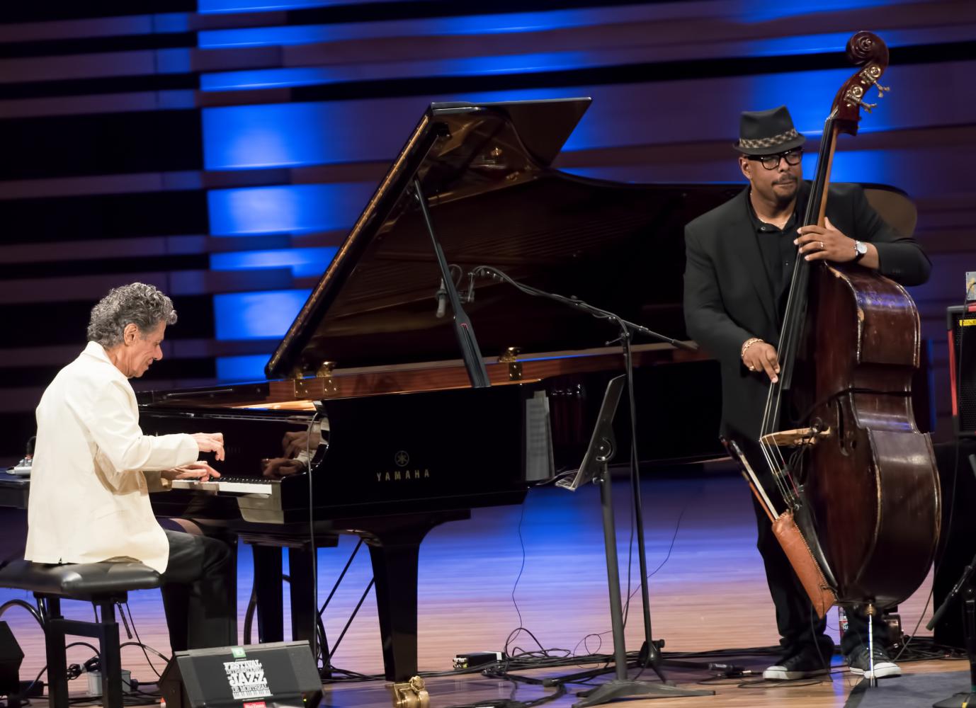
M 0 453 L 114 285 L 181 315 L 138 387 L 260 375 L 430 100 L 591 96 L 562 169 L 735 181 L 739 112 L 787 102 L 815 142 L 863 28 L 893 90 L 834 178 L 918 206 L 944 436 L 944 312 L 976 270 L 970 2 L 64 0 L 0 8 Z

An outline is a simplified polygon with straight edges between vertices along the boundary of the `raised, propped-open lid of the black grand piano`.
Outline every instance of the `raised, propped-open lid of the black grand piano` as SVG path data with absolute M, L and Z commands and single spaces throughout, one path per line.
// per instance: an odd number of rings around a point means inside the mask
M 418 177 L 448 263 L 495 266 L 685 338 L 683 227 L 741 184 L 629 184 L 550 165 L 590 98 L 432 103 L 265 366 L 269 378 L 337 367 L 456 360 L 451 311 L 435 316 L 440 271 L 416 200 Z M 907 201 L 907 200 L 906 200 Z M 455 269 L 456 277 L 459 275 Z M 465 305 L 482 356 L 600 347 L 606 322 L 479 280 Z

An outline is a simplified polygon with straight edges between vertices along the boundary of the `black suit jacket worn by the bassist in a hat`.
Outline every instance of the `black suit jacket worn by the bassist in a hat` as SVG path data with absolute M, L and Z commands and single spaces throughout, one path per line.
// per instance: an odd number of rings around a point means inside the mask
M 809 191 L 809 182 L 803 182 L 799 214 Z M 749 187 L 685 226 L 684 319 L 688 334 L 721 365 L 722 433 L 756 440 L 769 377 L 750 372 L 740 351 L 752 336 L 776 346 L 782 323 L 748 200 Z M 882 275 L 902 285 L 928 280 L 932 266 L 921 247 L 885 223 L 859 185 L 831 185 L 827 216 L 846 236 L 874 243 Z

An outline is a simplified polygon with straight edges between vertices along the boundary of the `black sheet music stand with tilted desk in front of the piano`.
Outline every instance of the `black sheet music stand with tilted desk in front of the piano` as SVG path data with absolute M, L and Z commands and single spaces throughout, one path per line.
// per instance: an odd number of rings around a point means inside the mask
M 631 681 L 627 676 L 627 648 L 624 644 L 624 611 L 620 600 L 620 567 L 617 562 L 617 529 L 613 518 L 613 504 L 610 496 L 609 463 L 617 452 L 617 440 L 613 433 L 613 418 L 620 404 L 621 393 L 627 385 L 627 375 L 610 379 L 600 413 L 593 426 L 590 446 L 583 456 L 580 469 L 572 479 L 562 479 L 556 486 L 575 491 L 587 482 L 599 482 L 600 506 L 603 510 L 603 542 L 606 547 L 607 585 L 610 590 L 610 624 L 613 632 L 614 664 L 616 677 L 596 688 L 581 691 L 583 700 L 574 703 L 573 708 L 608 703 L 617 698 L 646 695 L 656 698 L 684 695 L 714 695 L 713 690 L 690 690 L 676 688 L 668 684 L 651 684 L 645 681 Z

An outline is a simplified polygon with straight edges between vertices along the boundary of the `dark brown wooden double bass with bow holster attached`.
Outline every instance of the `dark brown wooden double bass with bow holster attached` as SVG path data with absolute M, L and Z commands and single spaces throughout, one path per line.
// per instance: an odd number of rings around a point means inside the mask
M 847 55 L 862 68 L 834 98 L 802 225 L 824 224 L 836 139 L 857 134 L 860 109 L 874 107 L 870 88 L 887 91 L 877 83 L 888 63 L 880 38 L 856 33 Z M 869 615 L 897 605 L 932 564 L 940 493 L 931 439 L 912 410 L 919 330 L 901 285 L 856 264 L 796 257 L 759 439 L 789 508 L 774 510 L 744 466 L 821 616 L 834 602 Z

